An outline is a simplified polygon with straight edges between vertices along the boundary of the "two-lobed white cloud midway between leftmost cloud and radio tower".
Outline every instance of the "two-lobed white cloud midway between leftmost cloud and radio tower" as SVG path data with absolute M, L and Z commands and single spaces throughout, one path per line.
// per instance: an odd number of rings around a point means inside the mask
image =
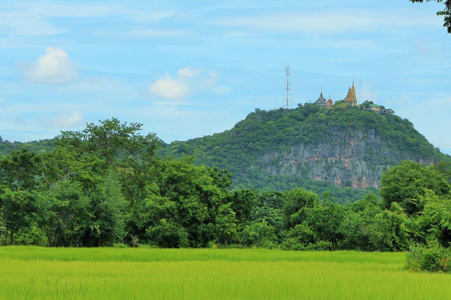
M 213 90 L 217 74 L 202 68 L 185 67 L 177 71 L 177 77 L 169 74 L 153 82 L 150 92 L 157 97 L 182 100 L 191 92 L 199 90 Z

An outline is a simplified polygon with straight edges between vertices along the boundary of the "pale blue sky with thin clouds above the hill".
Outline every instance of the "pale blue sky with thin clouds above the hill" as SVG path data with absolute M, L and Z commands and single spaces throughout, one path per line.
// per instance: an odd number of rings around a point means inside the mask
M 268 3 L 267 3 L 268 2 Z M 451 154 L 451 34 L 408 0 L 0 1 L 0 135 L 140 122 L 166 142 L 321 91 L 409 119 Z

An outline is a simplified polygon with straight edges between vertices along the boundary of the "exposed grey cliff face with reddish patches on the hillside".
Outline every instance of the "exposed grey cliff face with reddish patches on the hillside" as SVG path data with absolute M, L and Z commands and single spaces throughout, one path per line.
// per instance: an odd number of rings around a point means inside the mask
M 260 157 L 262 166 L 270 174 L 303 176 L 353 188 L 379 187 L 382 173 L 405 159 L 433 163 L 430 158 L 408 157 L 390 150 L 375 130 L 356 131 L 352 135 L 333 131 L 329 142 L 301 143 Z

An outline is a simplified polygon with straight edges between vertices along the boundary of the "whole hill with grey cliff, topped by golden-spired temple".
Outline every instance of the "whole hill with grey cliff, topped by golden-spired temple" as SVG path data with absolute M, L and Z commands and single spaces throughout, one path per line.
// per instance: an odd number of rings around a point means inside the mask
M 315 104 L 256 109 L 230 130 L 174 141 L 160 154 L 193 155 L 197 164 L 229 169 L 233 187 L 268 190 L 327 183 L 378 187 L 382 173 L 402 160 L 451 160 L 407 119 Z

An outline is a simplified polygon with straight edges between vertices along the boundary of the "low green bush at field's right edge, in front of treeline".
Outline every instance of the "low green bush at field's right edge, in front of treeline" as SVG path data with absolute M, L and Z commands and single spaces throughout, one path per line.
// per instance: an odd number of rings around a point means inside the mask
M 411 246 L 407 254 L 406 267 L 414 272 L 451 273 L 451 249 L 441 246 L 437 241 L 432 241 L 426 246 Z

